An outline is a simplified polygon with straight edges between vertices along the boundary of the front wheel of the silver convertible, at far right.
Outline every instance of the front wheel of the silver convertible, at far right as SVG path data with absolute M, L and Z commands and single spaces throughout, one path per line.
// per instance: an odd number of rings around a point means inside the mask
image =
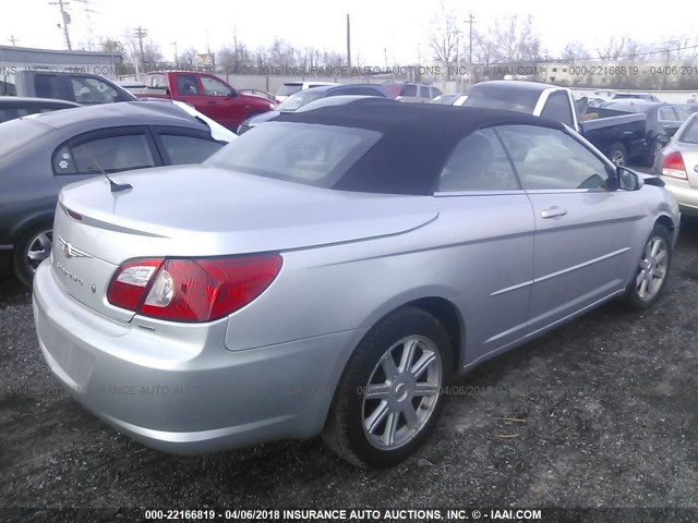
M 651 254 L 652 245 L 654 242 L 659 243 L 659 251 L 657 256 L 648 256 Z M 659 253 L 665 252 L 662 259 Z M 645 246 L 642 247 L 642 254 L 638 260 L 633 278 L 628 283 L 625 293 L 625 303 L 633 311 L 646 311 L 657 303 L 661 297 L 664 289 L 666 288 L 666 281 L 669 280 L 669 273 L 672 265 L 672 235 L 666 227 L 661 223 L 657 223 L 652 229 Z M 658 270 L 663 272 L 663 277 L 660 279 Z M 645 295 L 642 293 L 642 281 L 646 282 Z M 652 285 L 657 285 L 652 289 Z M 647 292 L 647 288 L 651 292 Z

